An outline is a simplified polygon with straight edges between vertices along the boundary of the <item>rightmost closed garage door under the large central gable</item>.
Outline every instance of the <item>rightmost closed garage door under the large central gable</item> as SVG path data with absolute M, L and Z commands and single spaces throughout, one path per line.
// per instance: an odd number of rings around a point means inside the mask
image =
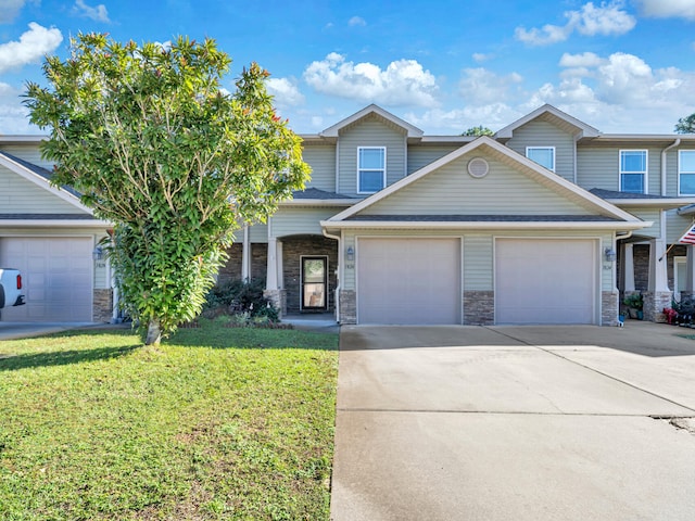
M 497 239 L 497 323 L 597 323 L 596 241 Z

